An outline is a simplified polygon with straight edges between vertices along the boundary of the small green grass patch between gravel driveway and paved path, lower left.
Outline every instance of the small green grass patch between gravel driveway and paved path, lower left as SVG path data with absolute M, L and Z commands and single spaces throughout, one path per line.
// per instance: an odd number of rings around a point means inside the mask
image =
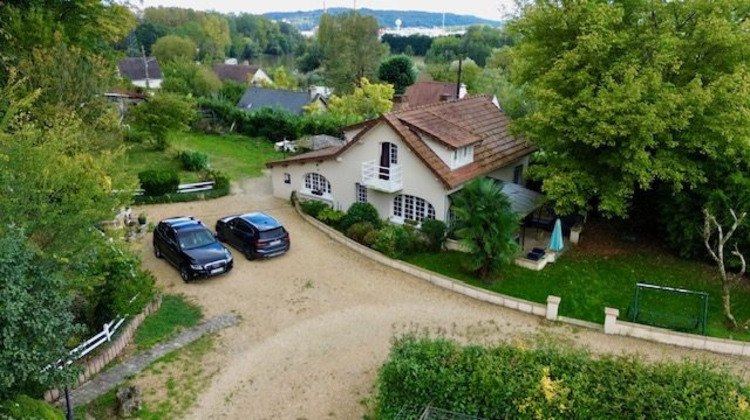
M 184 296 L 164 295 L 159 310 L 146 318 L 136 331 L 134 343 L 138 350 L 148 349 L 197 325 L 201 318 L 201 308 Z

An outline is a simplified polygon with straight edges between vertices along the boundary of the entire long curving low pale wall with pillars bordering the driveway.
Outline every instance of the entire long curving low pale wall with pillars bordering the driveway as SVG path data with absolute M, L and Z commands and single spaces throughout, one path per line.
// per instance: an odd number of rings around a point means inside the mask
M 454 291 L 456 293 L 460 293 L 464 296 L 525 312 L 528 314 L 545 317 L 548 320 L 559 321 L 577 327 L 603 331 L 608 335 L 633 337 L 656 343 L 671 344 L 677 347 L 707 350 L 719 354 L 750 356 L 750 342 L 705 337 L 701 335 L 681 333 L 664 328 L 651 327 L 643 324 L 618 321 L 617 317 L 619 316 L 620 311 L 614 308 L 604 308 L 605 319 L 603 327 L 600 324 L 589 321 L 558 316 L 558 308 L 561 299 L 557 296 L 548 296 L 547 305 L 545 306 L 536 302 L 529 302 L 527 300 L 490 292 L 485 289 L 468 285 L 460 280 L 441 276 L 437 273 L 424 270 L 421 267 L 388 258 L 373 249 L 370 249 L 347 238 L 341 232 L 331 228 L 330 226 L 315 219 L 314 217 L 303 213 L 302 209 L 299 208 L 299 205 L 295 204 L 294 208 L 297 211 L 297 214 L 299 214 L 304 220 L 328 235 L 328 237 L 330 237 L 331 239 L 346 246 L 347 248 L 383 265 L 395 268 L 396 270 L 399 270 L 406 274 L 410 274 L 414 277 L 427 280 L 428 282 L 436 286 Z

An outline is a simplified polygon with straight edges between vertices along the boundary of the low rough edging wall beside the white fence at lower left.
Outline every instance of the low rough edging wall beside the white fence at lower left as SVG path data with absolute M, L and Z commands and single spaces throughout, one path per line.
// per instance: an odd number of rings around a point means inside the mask
M 156 312 L 161 307 L 161 295 L 158 295 L 151 303 L 149 303 L 141 313 L 134 316 L 128 325 L 125 326 L 118 334 L 117 338 L 102 346 L 102 349 L 98 349 L 93 356 L 86 356 L 76 363 L 81 366 L 81 373 L 78 375 L 75 384 L 71 384 L 70 388 L 78 388 L 83 385 L 84 382 L 91 379 L 92 376 L 99 373 L 105 366 L 117 356 L 122 353 L 125 347 L 130 344 L 133 340 L 133 335 L 138 327 L 141 326 L 147 316 Z M 64 394 L 59 389 L 51 389 L 44 393 L 44 400 L 47 402 L 57 401 Z

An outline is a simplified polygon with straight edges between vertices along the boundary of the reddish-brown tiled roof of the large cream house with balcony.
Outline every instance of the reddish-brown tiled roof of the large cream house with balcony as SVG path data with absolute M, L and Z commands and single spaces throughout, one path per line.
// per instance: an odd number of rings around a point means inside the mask
M 269 162 L 267 165 L 271 167 L 337 157 L 381 122 L 391 126 L 448 188 L 455 188 L 473 178 L 486 175 L 536 150 L 536 146 L 529 141 L 516 138 L 509 133 L 508 117 L 493 103 L 491 96 L 476 95 L 384 114 L 380 118 L 370 120 L 369 124 L 344 146 Z M 420 134 L 451 148 L 473 144 L 474 162 L 451 170 L 422 140 Z

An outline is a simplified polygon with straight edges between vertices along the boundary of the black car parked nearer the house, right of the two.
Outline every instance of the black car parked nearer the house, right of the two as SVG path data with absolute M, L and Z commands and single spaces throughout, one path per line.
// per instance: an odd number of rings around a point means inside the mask
M 289 251 L 289 232 L 265 213 L 227 216 L 216 222 L 220 241 L 239 249 L 248 260 L 270 258 Z

